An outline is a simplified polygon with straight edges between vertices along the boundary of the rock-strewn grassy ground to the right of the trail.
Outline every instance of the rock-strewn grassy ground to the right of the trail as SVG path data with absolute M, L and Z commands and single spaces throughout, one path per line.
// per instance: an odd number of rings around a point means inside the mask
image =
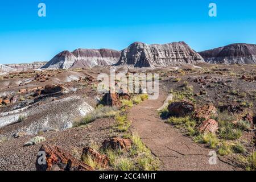
M 172 95 L 162 118 L 229 163 L 255 170 L 255 65 L 201 67 L 160 72 Z

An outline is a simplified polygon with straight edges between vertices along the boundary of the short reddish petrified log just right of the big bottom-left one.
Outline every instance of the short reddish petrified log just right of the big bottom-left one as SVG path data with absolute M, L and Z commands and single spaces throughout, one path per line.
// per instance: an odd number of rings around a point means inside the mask
M 85 147 L 82 150 L 82 155 L 90 155 L 92 159 L 99 165 L 101 168 L 106 168 L 109 166 L 109 158 L 106 155 L 101 155 L 99 152 L 90 147 Z

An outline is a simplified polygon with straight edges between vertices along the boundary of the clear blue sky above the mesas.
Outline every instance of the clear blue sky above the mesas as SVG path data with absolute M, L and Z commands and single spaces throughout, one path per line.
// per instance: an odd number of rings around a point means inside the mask
M 47 16 L 38 16 L 46 3 Z M 208 5 L 217 4 L 217 17 Z M 63 50 L 184 41 L 196 51 L 256 44 L 255 0 L 10 0 L 0 3 L 0 63 L 48 61 Z

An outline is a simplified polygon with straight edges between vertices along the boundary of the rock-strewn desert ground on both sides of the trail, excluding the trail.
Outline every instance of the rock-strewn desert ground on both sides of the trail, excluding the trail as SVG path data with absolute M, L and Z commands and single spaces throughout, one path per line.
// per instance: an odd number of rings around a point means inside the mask
M 0 76 L 0 169 L 158 169 L 150 148 L 130 133 L 127 119 L 126 112 L 144 101 L 144 96 L 97 92 L 97 76 L 109 74 L 109 68 L 16 71 Z M 213 135 L 210 141 L 216 136 L 210 146 L 245 169 L 244 163 L 255 152 L 255 69 L 254 65 L 200 63 L 180 69 L 128 71 L 159 73 L 164 85 L 161 92 L 171 94 L 171 101 L 162 103 L 163 121 L 197 142 L 209 141 L 205 139 L 208 133 Z M 228 123 L 222 122 L 225 113 L 230 115 Z M 120 148 L 121 153 L 117 152 Z M 50 156 L 44 167 L 35 165 L 39 151 Z M 240 151 L 243 162 L 238 162 L 238 153 L 230 151 Z

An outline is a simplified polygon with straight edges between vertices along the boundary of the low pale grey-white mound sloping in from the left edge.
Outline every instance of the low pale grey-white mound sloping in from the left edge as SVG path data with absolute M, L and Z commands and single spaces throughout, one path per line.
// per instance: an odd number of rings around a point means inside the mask
M 46 105 L 0 113 L 0 137 L 12 137 L 19 132 L 33 135 L 40 131 L 65 130 L 72 127 L 77 118 L 85 117 L 93 110 L 85 98 L 71 96 Z M 26 119 L 17 123 L 19 117 Z

